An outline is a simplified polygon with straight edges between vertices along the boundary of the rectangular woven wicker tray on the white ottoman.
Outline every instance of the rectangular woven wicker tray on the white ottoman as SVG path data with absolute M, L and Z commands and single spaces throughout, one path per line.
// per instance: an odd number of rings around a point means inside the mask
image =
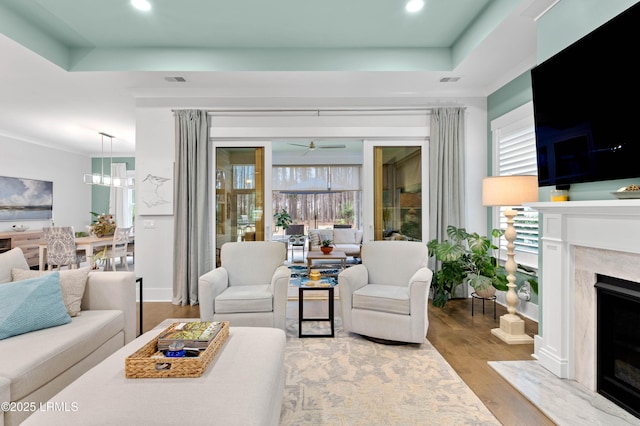
M 165 331 L 175 326 L 171 324 Z M 160 333 L 159 335 L 162 335 Z M 218 335 L 198 357 L 167 358 L 158 351 L 158 338 L 129 355 L 125 359 L 124 372 L 128 379 L 162 377 L 200 377 L 229 337 L 229 322 L 223 321 Z

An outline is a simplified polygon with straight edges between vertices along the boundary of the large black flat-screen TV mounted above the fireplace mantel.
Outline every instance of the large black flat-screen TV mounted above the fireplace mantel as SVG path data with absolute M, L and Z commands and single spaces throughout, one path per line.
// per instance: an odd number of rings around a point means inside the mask
M 640 176 L 640 3 L 531 70 L 538 182 Z

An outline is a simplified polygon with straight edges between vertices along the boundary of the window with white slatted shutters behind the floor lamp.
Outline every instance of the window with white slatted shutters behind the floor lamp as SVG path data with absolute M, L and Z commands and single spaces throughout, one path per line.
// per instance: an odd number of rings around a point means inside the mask
M 491 122 L 493 139 L 493 175 L 536 175 L 536 140 L 531 102 L 504 114 Z M 494 209 L 493 228 L 506 229 L 502 212 L 506 207 Z M 532 268 L 538 267 L 538 212 L 528 207 L 516 207 L 518 215 L 514 226 L 518 233 L 515 241 L 517 261 Z M 500 240 L 500 258 L 506 259 L 504 238 Z

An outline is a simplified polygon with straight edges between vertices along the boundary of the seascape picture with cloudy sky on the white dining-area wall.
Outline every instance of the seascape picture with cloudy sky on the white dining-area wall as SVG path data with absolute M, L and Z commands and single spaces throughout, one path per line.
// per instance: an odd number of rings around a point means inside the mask
M 0 176 L 0 221 L 52 217 L 53 182 Z

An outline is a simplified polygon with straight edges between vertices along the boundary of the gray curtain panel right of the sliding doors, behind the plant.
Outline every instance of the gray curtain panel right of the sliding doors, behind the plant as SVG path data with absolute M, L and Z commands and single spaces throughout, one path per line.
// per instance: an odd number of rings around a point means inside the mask
M 435 108 L 429 140 L 429 239 L 464 226 L 464 108 Z M 433 262 L 433 260 L 431 260 Z M 432 269 L 435 265 L 429 265 Z M 466 286 L 455 296 L 466 297 Z

